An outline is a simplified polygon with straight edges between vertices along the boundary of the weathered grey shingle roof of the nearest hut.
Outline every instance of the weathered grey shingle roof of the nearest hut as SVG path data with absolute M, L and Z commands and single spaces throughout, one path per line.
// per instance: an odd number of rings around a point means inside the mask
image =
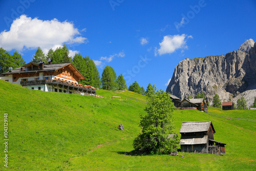
M 180 133 L 207 132 L 210 125 L 215 133 L 214 125 L 212 125 L 211 121 L 182 122 Z

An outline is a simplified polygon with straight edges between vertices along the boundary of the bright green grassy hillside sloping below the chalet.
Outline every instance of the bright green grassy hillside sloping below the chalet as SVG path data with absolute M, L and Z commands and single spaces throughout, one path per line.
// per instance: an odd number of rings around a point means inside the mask
M 227 143 L 225 156 L 181 152 L 178 157 L 124 155 L 133 150 L 133 140 L 140 133 L 139 115 L 145 114 L 146 103 L 111 97 L 145 97 L 129 91 L 117 94 L 99 90 L 97 94 L 105 98 L 29 90 L 0 80 L 1 125 L 4 113 L 8 113 L 9 120 L 9 167 L 2 163 L 0 170 L 256 169 L 256 123 L 193 110 L 175 111 L 176 132 L 182 121 L 210 120 L 216 130 L 215 139 Z M 239 115 L 255 119 L 255 113 Z M 118 130 L 118 124 L 123 124 L 125 130 Z M 4 157 L 1 144 L 0 155 Z

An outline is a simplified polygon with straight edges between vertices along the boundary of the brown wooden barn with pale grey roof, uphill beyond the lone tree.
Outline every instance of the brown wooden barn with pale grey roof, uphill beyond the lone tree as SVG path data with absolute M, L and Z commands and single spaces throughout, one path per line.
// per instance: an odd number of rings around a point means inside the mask
M 208 105 L 203 98 L 198 99 L 184 99 L 180 102 L 181 108 L 196 108 L 199 111 L 208 112 Z

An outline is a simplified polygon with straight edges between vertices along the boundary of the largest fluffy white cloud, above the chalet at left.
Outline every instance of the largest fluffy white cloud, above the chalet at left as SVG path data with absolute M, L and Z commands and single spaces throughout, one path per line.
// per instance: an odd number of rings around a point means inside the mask
M 82 31 L 85 31 L 83 29 Z M 40 20 L 21 15 L 15 19 L 10 31 L 0 33 L 0 47 L 10 51 L 25 49 L 50 49 L 64 43 L 87 43 L 88 39 L 80 35 L 71 22 L 59 22 L 57 19 Z

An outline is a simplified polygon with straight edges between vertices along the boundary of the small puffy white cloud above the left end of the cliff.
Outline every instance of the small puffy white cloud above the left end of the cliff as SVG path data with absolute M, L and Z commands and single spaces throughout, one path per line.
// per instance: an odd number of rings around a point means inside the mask
M 166 35 L 163 37 L 162 42 L 159 43 L 160 48 L 155 48 L 155 56 L 157 54 L 170 54 L 175 52 L 177 49 L 187 49 L 186 39 L 193 38 L 192 36 L 182 35 Z M 184 52 L 184 51 L 183 51 Z

